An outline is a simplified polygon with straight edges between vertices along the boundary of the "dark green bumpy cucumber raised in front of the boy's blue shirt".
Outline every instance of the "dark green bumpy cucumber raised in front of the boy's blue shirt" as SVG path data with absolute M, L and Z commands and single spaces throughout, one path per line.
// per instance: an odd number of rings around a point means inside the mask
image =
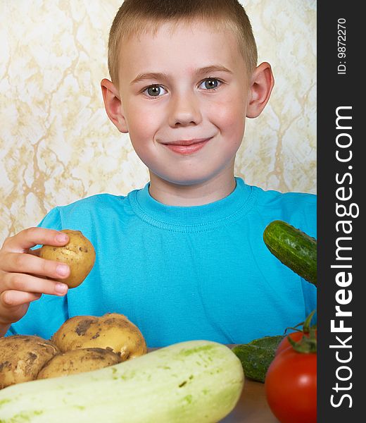
M 263 232 L 265 245 L 285 266 L 317 285 L 317 240 L 289 223 L 272 221 Z

